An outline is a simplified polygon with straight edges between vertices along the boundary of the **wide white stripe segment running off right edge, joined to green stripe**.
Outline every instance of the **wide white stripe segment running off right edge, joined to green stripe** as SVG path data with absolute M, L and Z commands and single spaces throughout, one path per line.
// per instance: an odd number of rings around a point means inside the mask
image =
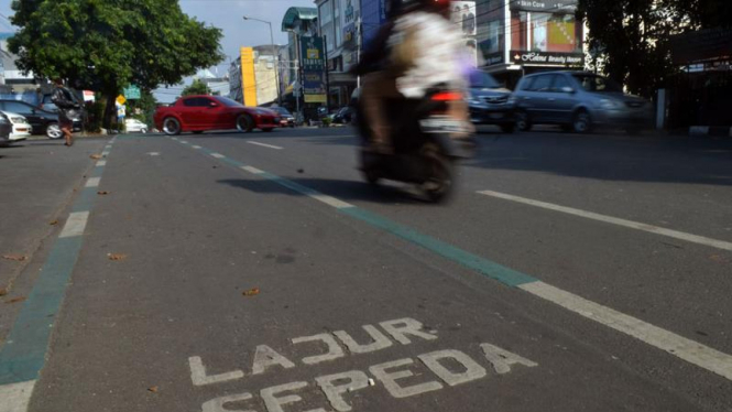
M 630 335 L 658 349 L 665 350 L 689 364 L 693 364 L 732 380 L 732 356 L 730 355 L 540 281 L 525 283 L 518 288 L 535 296 L 556 303 L 571 312 Z

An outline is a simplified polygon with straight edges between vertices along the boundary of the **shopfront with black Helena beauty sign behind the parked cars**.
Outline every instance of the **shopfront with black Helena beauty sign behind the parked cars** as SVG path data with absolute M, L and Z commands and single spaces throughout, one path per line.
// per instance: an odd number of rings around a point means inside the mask
M 584 67 L 577 0 L 479 1 L 479 65 L 512 88 L 529 73 Z

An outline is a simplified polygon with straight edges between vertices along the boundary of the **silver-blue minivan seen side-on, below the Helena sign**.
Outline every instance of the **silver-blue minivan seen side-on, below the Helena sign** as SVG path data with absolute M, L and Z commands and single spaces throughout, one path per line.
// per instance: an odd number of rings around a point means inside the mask
M 516 85 L 516 126 L 561 124 L 565 130 L 589 132 L 597 126 L 630 132 L 651 126 L 653 105 L 623 93 L 609 78 L 584 72 L 545 72 L 523 77 Z

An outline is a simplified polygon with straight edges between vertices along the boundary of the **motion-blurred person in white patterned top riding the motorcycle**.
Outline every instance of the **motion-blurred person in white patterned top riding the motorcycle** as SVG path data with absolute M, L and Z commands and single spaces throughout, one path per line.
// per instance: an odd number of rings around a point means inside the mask
M 459 64 L 461 35 L 450 22 L 449 0 L 393 0 L 384 23 L 353 71 L 363 78 L 360 100 L 370 129 L 368 150 L 391 153 L 386 99 L 420 98 L 438 84 L 465 88 Z M 448 116 L 467 120 L 465 102 L 450 104 Z

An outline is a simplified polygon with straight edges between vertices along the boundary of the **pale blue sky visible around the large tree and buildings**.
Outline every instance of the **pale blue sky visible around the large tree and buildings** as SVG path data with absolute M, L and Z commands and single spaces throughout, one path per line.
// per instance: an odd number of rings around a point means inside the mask
M 281 30 L 282 18 L 291 7 L 315 7 L 313 0 L 178 0 L 184 13 L 223 31 L 221 48 L 227 55 L 218 67 L 211 67 L 220 76 L 227 73 L 229 63 L 239 55 L 241 46 L 270 44 L 270 29 L 265 23 L 244 21 L 243 17 L 270 21 L 274 42 L 287 43 Z M 13 13 L 11 0 L 0 0 L 0 31 L 10 31 L 6 18 Z M 190 79 L 186 79 L 186 83 Z

